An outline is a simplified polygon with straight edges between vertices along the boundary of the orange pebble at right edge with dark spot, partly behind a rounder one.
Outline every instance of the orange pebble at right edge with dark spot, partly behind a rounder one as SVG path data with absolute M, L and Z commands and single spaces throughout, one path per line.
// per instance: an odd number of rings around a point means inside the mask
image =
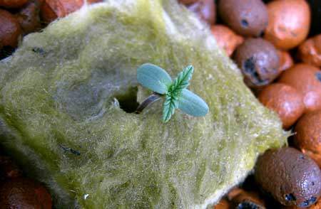
M 321 109 L 321 70 L 307 64 L 297 64 L 280 75 L 279 82 L 286 83 L 303 96 L 305 111 Z

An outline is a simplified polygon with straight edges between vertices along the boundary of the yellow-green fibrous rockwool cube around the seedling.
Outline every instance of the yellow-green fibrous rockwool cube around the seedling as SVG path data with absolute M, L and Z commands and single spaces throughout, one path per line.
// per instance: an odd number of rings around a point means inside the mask
M 44 53 L 37 53 L 41 49 Z M 154 63 L 207 102 L 205 117 L 161 102 L 136 69 Z M 114 0 L 24 38 L 0 62 L 1 146 L 46 183 L 55 208 L 205 208 L 285 144 L 276 114 L 243 84 L 205 26 L 175 0 Z

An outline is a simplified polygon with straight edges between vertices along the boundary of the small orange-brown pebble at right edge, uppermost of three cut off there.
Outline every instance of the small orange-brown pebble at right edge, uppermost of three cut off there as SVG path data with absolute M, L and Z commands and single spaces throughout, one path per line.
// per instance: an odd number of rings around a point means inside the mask
M 300 44 L 299 57 L 303 63 L 321 67 L 321 34 Z

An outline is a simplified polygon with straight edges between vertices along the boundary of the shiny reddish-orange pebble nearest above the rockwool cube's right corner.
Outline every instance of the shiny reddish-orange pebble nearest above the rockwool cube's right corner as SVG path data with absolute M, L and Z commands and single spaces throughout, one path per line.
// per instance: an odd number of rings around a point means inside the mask
M 277 112 L 285 129 L 292 126 L 305 110 L 300 92 L 282 83 L 264 87 L 258 95 L 258 100 L 265 107 Z

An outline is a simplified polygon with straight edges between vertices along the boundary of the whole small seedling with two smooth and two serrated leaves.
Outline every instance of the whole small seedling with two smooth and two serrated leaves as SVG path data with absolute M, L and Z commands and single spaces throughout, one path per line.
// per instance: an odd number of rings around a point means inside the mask
M 195 95 L 186 87 L 193 75 L 193 66 L 189 65 L 178 74 L 174 82 L 165 70 L 146 63 L 137 69 L 137 80 L 141 85 L 153 91 L 153 95 L 147 97 L 136 109 L 136 113 L 143 111 L 145 107 L 165 97 L 163 107 L 163 122 L 168 122 L 175 109 L 178 108 L 195 117 L 201 117 L 208 113 L 208 104 L 202 98 Z

